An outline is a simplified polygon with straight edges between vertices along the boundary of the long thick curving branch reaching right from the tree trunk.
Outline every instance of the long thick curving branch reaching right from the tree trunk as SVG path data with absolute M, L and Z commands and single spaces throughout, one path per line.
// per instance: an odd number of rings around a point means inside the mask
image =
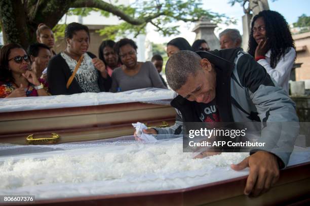
M 71 7 L 73 7 L 73 8 L 89 7 L 89 8 L 101 9 L 101 10 L 110 12 L 110 13 L 114 14 L 115 16 L 120 17 L 121 19 L 123 19 L 124 21 L 126 21 L 132 25 L 141 25 L 141 24 L 150 22 L 154 18 L 157 18 L 159 16 L 164 15 L 164 12 L 159 12 L 157 14 L 148 16 L 144 19 L 136 19 L 136 18 L 133 18 L 131 16 L 128 16 L 119 8 L 113 6 L 109 3 L 103 2 L 101 0 L 87 0 L 87 1 L 78 0 L 78 1 L 74 2 L 71 5 Z

